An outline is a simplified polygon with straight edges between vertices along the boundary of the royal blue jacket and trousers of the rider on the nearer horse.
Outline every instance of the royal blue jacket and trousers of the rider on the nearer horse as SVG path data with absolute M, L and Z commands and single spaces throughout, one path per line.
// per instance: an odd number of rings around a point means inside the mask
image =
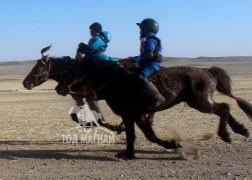
M 133 62 L 140 65 L 139 73 L 144 77 L 149 77 L 153 73 L 157 72 L 160 68 L 160 61 L 153 59 L 152 61 L 146 61 L 145 55 L 149 51 L 155 51 L 158 42 L 155 39 L 148 39 L 149 36 L 156 36 L 155 33 L 149 33 L 145 38 L 141 39 L 140 55 L 130 58 Z M 160 44 L 158 54 L 162 54 L 162 45 Z

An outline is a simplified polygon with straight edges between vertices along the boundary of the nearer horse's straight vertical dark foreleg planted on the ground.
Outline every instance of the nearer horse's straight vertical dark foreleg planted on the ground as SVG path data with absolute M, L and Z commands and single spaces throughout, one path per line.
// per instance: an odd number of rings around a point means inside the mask
M 125 131 L 126 131 L 126 140 L 127 140 L 127 147 L 126 151 L 122 153 L 118 153 L 118 158 L 123 159 L 134 159 L 135 158 L 135 150 L 134 150 L 134 141 L 135 141 L 135 127 L 133 117 L 124 116 L 122 117 L 123 123 L 125 124 Z

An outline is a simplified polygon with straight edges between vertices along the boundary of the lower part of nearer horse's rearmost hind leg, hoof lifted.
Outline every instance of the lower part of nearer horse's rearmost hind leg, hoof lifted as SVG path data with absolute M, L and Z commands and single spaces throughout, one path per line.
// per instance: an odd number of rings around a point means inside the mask
M 231 114 L 228 116 L 228 125 L 235 133 L 241 134 L 247 138 L 249 137 L 249 131 L 244 127 L 243 124 L 237 122 Z

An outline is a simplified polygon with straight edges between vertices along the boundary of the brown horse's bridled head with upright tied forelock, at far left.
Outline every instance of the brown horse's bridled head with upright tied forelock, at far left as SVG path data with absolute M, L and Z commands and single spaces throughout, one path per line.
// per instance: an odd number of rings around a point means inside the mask
M 47 46 L 40 51 L 42 55 L 41 59 L 37 60 L 37 63 L 32 68 L 31 72 L 23 80 L 23 85 L 26 89 L 31 90 L 32 88 L 43 84 L 48 79 L 60 81 L 63 78 L 62 74 L 67 72 L 67 69 L 73 63 L 69 56 L 53 58 L 49 55 L 44 55 L 44 53 L 50 48 L 51 46 Z

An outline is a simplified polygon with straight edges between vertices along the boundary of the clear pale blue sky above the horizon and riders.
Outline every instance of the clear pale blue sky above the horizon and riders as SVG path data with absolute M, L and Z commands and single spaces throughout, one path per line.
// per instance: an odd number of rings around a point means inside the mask
M 99 22 L 112 34 L 106 54 L 139 54 L 136 22 L 154 18 L 164 56 L 251 56 L 251 0 L 0 0 L 0 61 L 75 56 Z

